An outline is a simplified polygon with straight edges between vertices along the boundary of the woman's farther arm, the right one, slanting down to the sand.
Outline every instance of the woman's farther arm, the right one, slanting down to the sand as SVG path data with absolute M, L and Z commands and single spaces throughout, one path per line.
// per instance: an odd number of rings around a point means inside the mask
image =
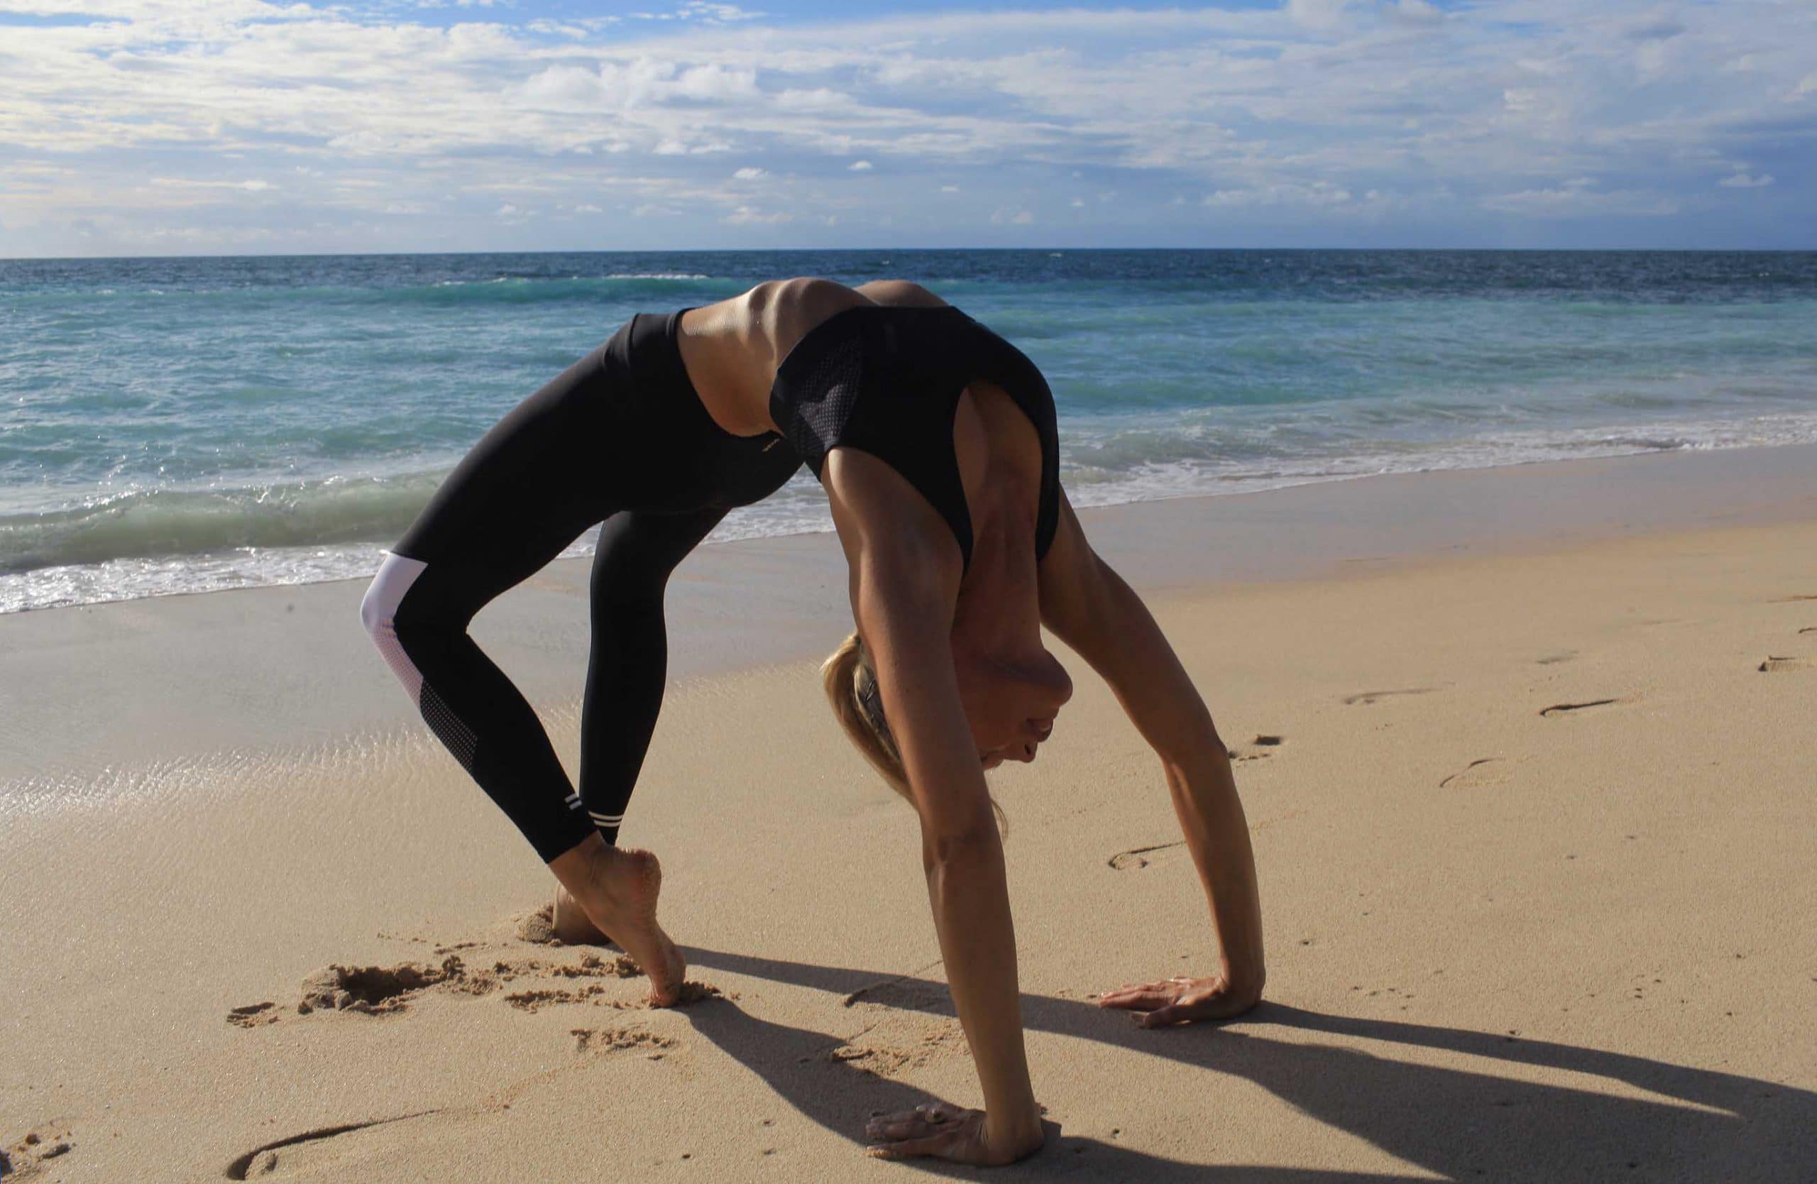
M 1041 621 L 1110 683 L 1161 757 L 1217 933 L 1214 979 L 1127 986 L 1099 1002 L 1148 1011 L 1148 1026 L 1246 1011 L 1261 999 L 1265 979 L 1261 899 L 1230 755 L 1148 607 L 1090 548 L 1065 498 L 1059 530 L 1041 561 Z

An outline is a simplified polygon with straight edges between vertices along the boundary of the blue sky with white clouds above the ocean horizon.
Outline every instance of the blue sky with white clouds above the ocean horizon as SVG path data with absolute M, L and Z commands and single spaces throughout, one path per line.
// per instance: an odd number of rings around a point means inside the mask
M 0 258 L 1813 249 L 1813 0 L 0 0 Z

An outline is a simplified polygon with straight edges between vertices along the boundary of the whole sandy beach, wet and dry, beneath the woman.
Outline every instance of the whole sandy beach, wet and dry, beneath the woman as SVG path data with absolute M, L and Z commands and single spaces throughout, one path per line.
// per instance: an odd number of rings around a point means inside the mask
M 0 617 L 7 1179 L 1812 1179 L 1808 449 L 1085 523 L 1236 754 L 1268 988 L 1223 1026 L 1092 1004 L 1208 973 L 1210 928 L 1156 761 L 1057 650 L 1076 699 L 992 779 L 1039 1157 L 861 1153 L 872 1111 L 978 1093 L 914 815 L 818 694 L 850 617 L 816 536 L 672 590 L 623 835 L 700 984 L 661 1011 L 612 950 L 532 941 L 551 879 L 412 719 L 362 583 Z M 583 561 L 474 634 L 572 761 Z

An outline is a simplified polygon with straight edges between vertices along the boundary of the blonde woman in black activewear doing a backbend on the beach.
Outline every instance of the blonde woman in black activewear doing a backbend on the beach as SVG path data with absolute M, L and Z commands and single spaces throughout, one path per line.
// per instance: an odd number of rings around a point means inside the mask
M 878 1155 L 1007 1164 L 1041 1146 L 1003 848 L 985 770 L 1032 761 L 1072 694 L 1047 625 L 1161 757 L 1212 908 L 1205 979 L 1099 999 L 1150 1026 L 1261 997 L 1248 828 L 1212 717 L 1141 599 L 1059 490 L 1054 400 L 1019 350 L 912 283 L 760 283 L 632 318 L 518 405 L 387 554 L 360 607 L 423 719 L 536 848 L 569 901 L 674 1002 L 661 870 L 620 850 L 665 677 L 663 588 L 732 507 L 805 459 L 832 505 L 856 632 L 827 661 L 839 723 L 921 817 L 921 863 L 985 1110 L 878 1119 Z M 580 790 L 523 696 L 467 636 L 494 596 L 600 523 Z

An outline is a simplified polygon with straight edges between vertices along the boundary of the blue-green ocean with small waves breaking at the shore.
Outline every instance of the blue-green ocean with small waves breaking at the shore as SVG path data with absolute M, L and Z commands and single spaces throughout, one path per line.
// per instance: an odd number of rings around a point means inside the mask
M 0 612 L 363 576 L 632 312 L 794 274 L 1021 347 L 1076 505 L 1817 441 L 1817 252 L 0 260 Z M 805 472 L 714 538 L 803 530 Z

